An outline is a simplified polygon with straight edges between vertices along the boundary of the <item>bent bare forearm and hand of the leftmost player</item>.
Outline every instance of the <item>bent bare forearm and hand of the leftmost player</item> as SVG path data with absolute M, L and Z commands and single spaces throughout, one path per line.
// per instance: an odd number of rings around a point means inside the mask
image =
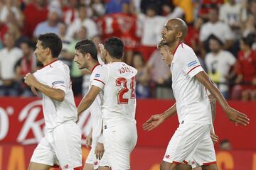
M 65 92 L 60 89 L 51 88 L 50 86 L 47 86 L 45 84 L 41 84 L 41 82 L 37 81 L 37 79 L 33 76 L 33 74 L 26 74 L 26 77 L 24 77 L 25 83 L 28 86 L 31 86 L 31 89 L 33 90 L 33 93 L 35 89 L 38 89 L 38 91 L 41 91 L 46 96 L 53 98 L 56 101 L 63 101 L 65 98 Z

